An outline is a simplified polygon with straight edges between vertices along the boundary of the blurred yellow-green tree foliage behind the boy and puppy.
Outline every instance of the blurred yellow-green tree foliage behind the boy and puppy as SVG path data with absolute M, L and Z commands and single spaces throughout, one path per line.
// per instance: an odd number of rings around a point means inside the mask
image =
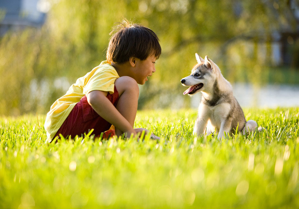
M 123 17 L 150 27 L 162 46 L 157 72 L 141 86 L 140 108 L 178 105 L 172 100 L 183 92 L 180 79 L 196 64 L 196 52 L 219 64 L 231 82 L 258 77 L 259 69 L 271 65 L 271 43 L 280 40 L 275 34 L 298 34 L 292 2 L 52 0 L 41 30 L 11 32 L 0 40 L 0 114 L 47 112 L 70 84 L 105 59 L 109 32 Z M 298 37 L 293 39 L 298 52 Z M 264 46 L 266 53 L 260 53 Z

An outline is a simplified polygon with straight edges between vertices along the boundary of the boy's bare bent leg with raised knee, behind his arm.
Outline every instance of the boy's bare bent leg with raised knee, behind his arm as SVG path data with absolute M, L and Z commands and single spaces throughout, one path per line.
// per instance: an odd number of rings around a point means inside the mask
M 116 79 L 114 84 L 118 90 L 119 97 L 116 109 L 128 120 L 132 127 L 134 127 L 139 97 L 138 84 L 129 76 L 122 76 Z M 115 133 L 117 136 L 122 134 L 117 128 L 115 128 Z

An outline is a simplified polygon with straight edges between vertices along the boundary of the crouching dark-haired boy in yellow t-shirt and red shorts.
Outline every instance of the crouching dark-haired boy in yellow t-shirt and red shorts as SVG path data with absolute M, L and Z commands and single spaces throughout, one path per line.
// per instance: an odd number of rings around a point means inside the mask
M 155 61 L 161 54 L 159 39 L 149 28 L 130 24 L 126 19 L 112 33 L 107 60 L 77 79 L 51 106 L 45 120 L 47 142 L 59 134 L 81 136 L 91 129 L 96 136 L 105 132 L 104 137 L 147 132 L 133 128 L 138 84 L 144 84 L 156 71 Z M 109 130 L 111 125 L 115 130 Z

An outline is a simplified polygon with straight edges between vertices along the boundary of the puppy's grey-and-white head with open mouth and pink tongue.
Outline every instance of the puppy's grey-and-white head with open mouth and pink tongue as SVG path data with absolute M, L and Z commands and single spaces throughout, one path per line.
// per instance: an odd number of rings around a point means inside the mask
M 199 91 L 208 91 L 212 89 L 216 80 L 214 63 L 208 56 L 205 56 L 205 59 L 202 59 L 197 53 L 195 56 L 198 64 L 193 67 L 190 76 L 181 79 L 181 83 L 189 87 L 183 94 L 193 95 Z

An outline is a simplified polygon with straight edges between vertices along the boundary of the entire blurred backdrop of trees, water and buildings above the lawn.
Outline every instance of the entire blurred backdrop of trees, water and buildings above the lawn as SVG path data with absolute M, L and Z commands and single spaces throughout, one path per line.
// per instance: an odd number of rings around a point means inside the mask
M 180 79 L 208 55 L 242 107 L 299 105 L 298 0 L 1 0 L 0 115 L 47 113 L 105 60 L 122 18 L 151 28 L 162 54 L 139 109 L 195 108 Z

